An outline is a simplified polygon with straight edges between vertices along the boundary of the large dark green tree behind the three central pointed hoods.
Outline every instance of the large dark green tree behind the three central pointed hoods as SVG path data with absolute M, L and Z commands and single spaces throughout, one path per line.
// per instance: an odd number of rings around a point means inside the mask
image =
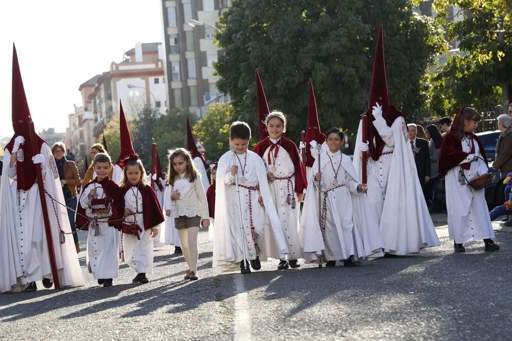
M 287 136 L 306 128 L 308 80 L 325 130 L 354 132 L 368 108 L 379 24 L 385 32 L 391 102 L 418 115 L 425 101 L 421 78 L 444 38 L 436 22 L 403 0 L 233 0 L 219 19 L 224 55 L 215 64 L 220 90 L 229 93 L 240 119 L 257 128 L 254 68 L 269 107 L 288 116 Z M 424 113 L 422 113 L 424 115 Z M 419 116 L 419 115 L 418 115 Z

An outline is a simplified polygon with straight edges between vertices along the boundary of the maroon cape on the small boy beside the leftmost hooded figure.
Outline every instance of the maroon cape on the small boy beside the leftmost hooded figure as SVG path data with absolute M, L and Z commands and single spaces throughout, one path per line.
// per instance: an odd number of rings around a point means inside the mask
M 122 226 L 122 221 L 119 219 L 123 217 L 124 213 L 124 196 L 121 194 L 121 189 L 109 177 L 106 177 L 101 181 L 98 181 L 98 178 L 96 177 L 94 180 L 89 181 L 85 186 L 83 186 L 83 190 L 85 190 L 89 185 L 95 183 L 101 185 L 103 191 L 105 192 L 105 195 L 111 197 L 114 201 L 112 203 L 112 216 L 109 218 L 109 226 L 113 226 L 116 229 L 120 229 Z M 76 212 L 77 229 L 88 231 L 90 220 L 85 218 L 86 210 L 84 210 L 80 205 L 80 199 L 78 199 L 78 207 L 76 209 Z

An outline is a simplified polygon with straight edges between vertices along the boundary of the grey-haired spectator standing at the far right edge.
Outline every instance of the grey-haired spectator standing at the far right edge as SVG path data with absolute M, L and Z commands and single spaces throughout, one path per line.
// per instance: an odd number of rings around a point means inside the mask
M 500 181 L 496 184 L 497 193 L 504 193 L 503 180 L 507 174 L 512 172 L 512 118 L 508 115 L 498 116 L 498 129 L 501 131 L 498 143 L 496 144 L 496 158 L 493 163 L 493 168 L 500 171 Z M 504 193 L 502 199 L 508 198 L 507 193 Z M 498 200 L 503 202 L 504 200 Z M 505 218 L 505 221 L 508 217 Z M 512 221 L 511 221 L 512 222 Z

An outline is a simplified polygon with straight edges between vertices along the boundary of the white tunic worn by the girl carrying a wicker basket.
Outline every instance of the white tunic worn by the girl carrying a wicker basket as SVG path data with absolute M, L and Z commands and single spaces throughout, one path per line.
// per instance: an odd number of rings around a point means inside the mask
M 471 153 L 471 141 L 462 140 L 462 151 Z M 469 145 L 468 145 L 469 144 Z M 478 143 L 475 142 L 475 154 L 482 157 Z M 461 163 L 471 162 L 466 157 Z M 485 201 L 485 190 L 474 190 L 471 186 L 459 182 L 460 167 L 454 167 L 446 173 L 446 207 L 448 211 L 448 232 L 456 243 L 494 238 L 493 225 L 490 222 L 489 209 Z M 488 172 L 483 160 L 471 163 L 470 169 L 464 169 L 468 180 Z

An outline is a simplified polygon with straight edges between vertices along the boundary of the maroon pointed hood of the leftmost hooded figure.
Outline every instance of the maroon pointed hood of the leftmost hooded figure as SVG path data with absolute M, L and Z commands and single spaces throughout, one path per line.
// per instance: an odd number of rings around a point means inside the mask
M 32 150 L 29 130 L 29 122 L 31 121 L 32 117 L 25 96 L 22 74 L 19 71 L 18 55 L 16 47 L 12 44 L 12 128 L 14 135 L 5 149 L 11 152 L 14 147 L 14 139 L 18 136 L 25 138 L 25 143 L 19 146 L 19 155 L 23 153 L 23 161 L 16 162 L 17 189 L 24 191 L 28 191 L 36 181 L 36 170 L 32 163 L 32 156 L 39 154 L 42 144 L 45 143 L 45 140 L 34 133 L 34 138 L 37 140 L 35 145 L 38 150 Z

